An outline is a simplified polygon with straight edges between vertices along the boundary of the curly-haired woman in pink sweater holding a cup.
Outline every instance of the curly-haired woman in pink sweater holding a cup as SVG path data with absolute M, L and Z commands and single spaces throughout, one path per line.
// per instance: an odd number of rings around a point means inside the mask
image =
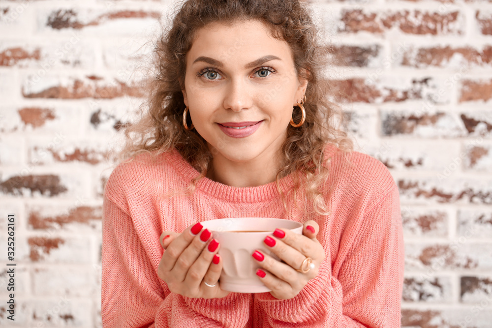
M 105 187 L 104 327 L 400 327 L 398 188 L 335 128 L 326 49 L 297 0 L 184 2 Z M 303 236 L 251 254 L 272 292 L 223 291 L 200 222 L 252 216 Z

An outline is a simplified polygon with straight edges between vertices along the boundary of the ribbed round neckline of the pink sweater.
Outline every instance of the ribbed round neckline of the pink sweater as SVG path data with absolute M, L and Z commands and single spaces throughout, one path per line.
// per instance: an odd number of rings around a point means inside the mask
M 172 161 L 176 170 L 186 180 L 186 183 L 200 175 L 200 173 L 195 170 L 183 156 L 181 156 L 177 149 L 172 149 L 172 151 L 168 153 L 167 158 Z M 280 189 L 284 194 L 287 194 L 294 186 L 294 174 L 295 173 L 291 173 L 279 179 Z M 234 187 L 204 177 L 196 183 L 196 188 L 215 198 L 230 202 L 257 203 L 269 201 L 272 198 L 280 196 L 276 181 L 259 186 Z

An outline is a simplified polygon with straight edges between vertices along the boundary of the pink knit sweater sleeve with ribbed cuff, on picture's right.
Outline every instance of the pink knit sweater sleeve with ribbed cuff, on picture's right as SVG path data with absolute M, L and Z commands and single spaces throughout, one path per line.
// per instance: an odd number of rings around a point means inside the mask
M 335 277 L 328 257 L 294 298 L 256 296 L 266 313 L 263 327 L 400 327 L 403 237 L 400 198 L 391 190 L 365 212 Z

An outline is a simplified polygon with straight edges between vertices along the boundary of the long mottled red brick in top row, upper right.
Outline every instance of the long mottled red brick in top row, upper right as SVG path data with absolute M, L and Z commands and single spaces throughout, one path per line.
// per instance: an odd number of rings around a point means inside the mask
M 447 13 L 421 10 L 401 10 L 397 12 L 364 12 L 361 9 L 344 9 L 341 31 L 382 33 L 399 28 L 408 34 L 462 34 L 463 15 L 459 11 Z

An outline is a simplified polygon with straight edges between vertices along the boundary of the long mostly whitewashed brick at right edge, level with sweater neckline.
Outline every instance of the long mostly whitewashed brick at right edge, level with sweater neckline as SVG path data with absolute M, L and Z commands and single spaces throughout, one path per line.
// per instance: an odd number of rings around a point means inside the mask
M 492 204 L 492 180 L 453 179 L 452 174 L 438 174 L 432 179 L 399 179 L 400 195 L 405 201 Z

